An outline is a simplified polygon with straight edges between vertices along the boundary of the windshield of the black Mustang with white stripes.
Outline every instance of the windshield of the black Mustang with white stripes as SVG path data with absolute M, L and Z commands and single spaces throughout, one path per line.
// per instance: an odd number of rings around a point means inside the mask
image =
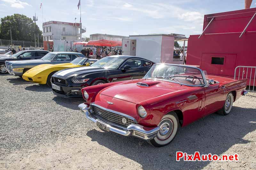
M 104 67 L 105 69 L 116 69 L 119 67 L 121 63 L 123 63 L 124 58 L 119 57 L 104 57 L 95 63 L 93 63 L 91 66 L 94 67 Z

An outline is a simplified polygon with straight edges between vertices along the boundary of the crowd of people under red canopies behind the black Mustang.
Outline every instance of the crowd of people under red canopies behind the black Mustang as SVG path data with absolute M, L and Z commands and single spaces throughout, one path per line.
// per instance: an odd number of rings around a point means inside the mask
M 74 52 L 78 52 L 77 48 L 75 48 Z M 100 59 L 101 56 L 109 56 L 109 55 L 122 55 L 122 50 L 120 48 L 84 48 L 81 50 L 81 53 L 85 55 L 87 58 L 92 56 L 96 56 L 96 59 Z

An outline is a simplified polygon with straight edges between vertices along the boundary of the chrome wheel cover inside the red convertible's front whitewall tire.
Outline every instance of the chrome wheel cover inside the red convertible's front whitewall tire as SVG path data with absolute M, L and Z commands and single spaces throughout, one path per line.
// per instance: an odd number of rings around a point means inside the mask
M 171 119 L 163 119 L 158 126 L 160 127 L 160 130 L 157 133 L 156 137 L 159 140 L 165 140 L 171 136 L 173 131 L 173 122 Z

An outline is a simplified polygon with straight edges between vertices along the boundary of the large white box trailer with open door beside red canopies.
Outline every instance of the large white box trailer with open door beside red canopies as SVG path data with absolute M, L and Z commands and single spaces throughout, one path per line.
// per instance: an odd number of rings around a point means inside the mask
M 122 40 L 122 54 L 143 57 L 155 63 L 183 64 L 179 58 L 173 58 L 174 40 L 183 36 L 180 34 L 130 35 L 130 39 Z

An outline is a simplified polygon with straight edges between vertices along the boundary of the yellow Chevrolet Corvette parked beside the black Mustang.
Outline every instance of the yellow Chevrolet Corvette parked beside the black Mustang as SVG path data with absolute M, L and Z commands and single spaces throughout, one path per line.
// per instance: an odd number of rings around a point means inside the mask
M 39 84 L 47 84 L 51 87 L 51 78 L 55 72 L 68 68 L 90 66 L 95 61 L 97 60 L 77 57 L 70 63 L 41 64 L 25 72 L 22 78 L 26 81 L 32 81 Z

